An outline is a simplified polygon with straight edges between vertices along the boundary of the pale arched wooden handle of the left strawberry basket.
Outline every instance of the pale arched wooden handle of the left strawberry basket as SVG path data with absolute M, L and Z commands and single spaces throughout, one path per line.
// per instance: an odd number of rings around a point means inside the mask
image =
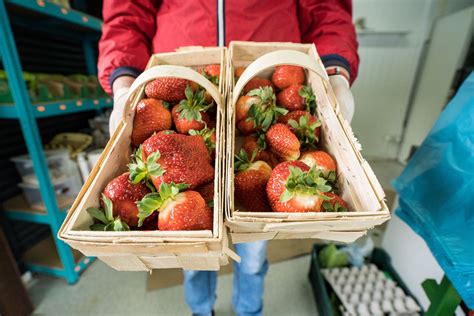
M 130 86 L 130 90 L 128 91 L 127 102 L 124 108 L 124 117 L 126 117 L 133 105 L 133 100 L 135 99 L 137 93 L 139 93 L 140 88 L 152 81 L 156 78 L 163 78 L 163 77 L 174 77 L 174 78 L 181 78 L 190 81 L 194 81 L 199 84 L 201 87 L 207 90 L 209 94 L 212 96 L 214 101 L 217 104 L 217 108 L 219 111 L 223 110 L 222 105 L 222 96 L 219 93 L 218 88 L 209 80 L 207 80 L 203 75 L 198 73 L 197 71 L 184 66 L 173 66 L 173 65 L 159 65 L 151 67 L 145 70 L 140 76 L 135 79 L 133 84 Z

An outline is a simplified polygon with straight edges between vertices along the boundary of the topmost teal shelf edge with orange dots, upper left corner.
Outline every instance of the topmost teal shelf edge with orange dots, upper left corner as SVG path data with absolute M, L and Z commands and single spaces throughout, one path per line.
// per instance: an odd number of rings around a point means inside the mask
M 47 0 L 6 0 L 5 2 L 9 7 L 53 17 L 84 29 L 100 31 L 102 28 L 102 20 L 77 10 L 63 8 Z

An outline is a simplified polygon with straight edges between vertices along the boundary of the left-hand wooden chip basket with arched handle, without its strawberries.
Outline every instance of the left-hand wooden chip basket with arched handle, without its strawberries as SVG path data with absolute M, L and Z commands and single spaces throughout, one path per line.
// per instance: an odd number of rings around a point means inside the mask
M 220 64 L 220 86 L 191 68 L 206 64 Z M 191 68 L 190 68 L 191 67 Z M 223 225 L 224 187 L 224 100 L 225 48 L 193 48 L 176 53 L 153 55 L 130 88 L 124 110 L 124 119 L 108 142 L 96 166 L 72 205 L 58 233 L 59 238 L 87 256 L 96 256 L 117 270 L 141 271 L 161 268 L 187 270 L 218 270 L 228 263 L 228 255 L 238 259 L 228 249 Z M 92 218 L 86 212 L 99 205 L 99 196 L 105 185 L 126 171 L 132 154 L 130 139 L 135 106 L 144 97 L 144 85 L 158 77 L 178 77 L 197 82 L 204 87 L 217 104 L 216 166 L 213 230 L 203 231 L 90 231 Z

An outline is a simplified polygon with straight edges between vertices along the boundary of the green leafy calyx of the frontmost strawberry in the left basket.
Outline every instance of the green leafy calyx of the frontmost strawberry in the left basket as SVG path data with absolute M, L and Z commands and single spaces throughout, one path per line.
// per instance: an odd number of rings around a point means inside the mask
M 143 221 L 154 211 L 159 211 L 169 200 L 174 200 L 179 192 L 187 189 L 188 184 L 164 183 L 160 185 L 159 192 L 148 193 L 137 202 L 138 206 L 138 227 L 143 225 Z

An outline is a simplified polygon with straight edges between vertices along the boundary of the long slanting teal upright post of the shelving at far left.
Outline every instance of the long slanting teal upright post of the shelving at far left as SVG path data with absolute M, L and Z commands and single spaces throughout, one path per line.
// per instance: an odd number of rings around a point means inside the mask
M 75 283 L 78 279 L 78 274 L 75 271 L 72 251 L 64 242 L 59 240 L 57 236 L 62 216 L 56 201 L 51 179 L 49 178 L 48 166 L 46 164 L 43 145 L 34 115 L 34 107 L 31 104 L 28 90 L 23 80 L 23 71 L 4 0 L 0 0 L 0 54 L 7 73 L 8 84 L 12 90 L 15 109 L 18 113 L 18 120 L 26 147 L 33 160 L 33 168 L 39 181 L 40 192 L 46 206 L 53 238 L 63 264 L 64 276 L 68 283 Z

